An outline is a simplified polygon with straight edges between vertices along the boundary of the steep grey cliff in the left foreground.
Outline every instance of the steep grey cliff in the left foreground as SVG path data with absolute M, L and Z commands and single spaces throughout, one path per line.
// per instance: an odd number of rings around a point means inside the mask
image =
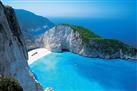
M 43 91 L 29 70 L 27 58 L 15 12 L 0 2 L 0 76 L 16 78 L 24 91 Z

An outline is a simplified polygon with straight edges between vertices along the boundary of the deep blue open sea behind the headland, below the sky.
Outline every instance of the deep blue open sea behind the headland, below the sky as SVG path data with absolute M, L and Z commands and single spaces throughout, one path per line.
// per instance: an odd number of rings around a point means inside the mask
M 84 26 L 104 38 L 118 39 L 137 47 L 136 16 L 114 19 L 49 17 L 55 24 Z

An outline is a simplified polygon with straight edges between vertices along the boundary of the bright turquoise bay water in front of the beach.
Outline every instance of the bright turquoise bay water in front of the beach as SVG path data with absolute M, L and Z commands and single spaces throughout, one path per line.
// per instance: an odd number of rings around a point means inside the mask
M 137 62 L 51 53 L 30 65 L 41 85 L 54 91 L 136 91 Z

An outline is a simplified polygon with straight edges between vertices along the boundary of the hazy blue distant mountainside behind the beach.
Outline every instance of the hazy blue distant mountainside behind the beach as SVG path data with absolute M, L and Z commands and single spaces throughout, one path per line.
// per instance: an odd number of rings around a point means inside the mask
M 46 17 L 38 16 L 32 12 L 15 9 L 21 31 L 25 38 L 28 50 L 42 47 L 43 34 L 54 24 Z

